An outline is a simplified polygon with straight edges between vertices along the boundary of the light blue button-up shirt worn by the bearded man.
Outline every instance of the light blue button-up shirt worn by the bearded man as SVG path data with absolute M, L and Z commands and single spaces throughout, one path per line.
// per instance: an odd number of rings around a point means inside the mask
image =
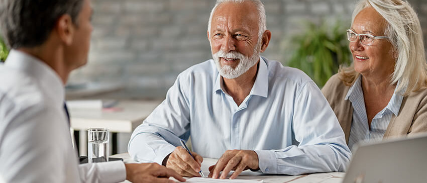
M 240 106 L 226 94 L 213 60 L 180 73 L 166 99 L 135 129 L 128 150 L 137 161 L 162 163 L 190 134 L 192 150 L 203 157 L 255 150 L 263 173 L 344 171 L 351 156 L 316 84 L 302 71 L 264 57 Z

